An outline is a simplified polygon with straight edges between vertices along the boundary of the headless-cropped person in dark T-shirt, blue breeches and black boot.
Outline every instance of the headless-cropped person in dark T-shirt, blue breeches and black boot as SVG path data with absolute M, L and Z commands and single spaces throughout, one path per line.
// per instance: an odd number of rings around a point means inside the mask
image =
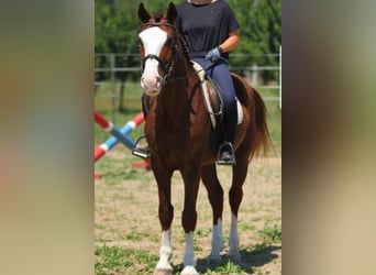
M 240 24 L 223 0 L 188 0 L 177 6 L 176 28 L 190 58 L 206 68 L 220 86 L 224 102 L 224 143 L 219 164 L 235 164 L 233 142 L 237 124 L 235 90 L 229 70 L 229 54 L 240 42 Z

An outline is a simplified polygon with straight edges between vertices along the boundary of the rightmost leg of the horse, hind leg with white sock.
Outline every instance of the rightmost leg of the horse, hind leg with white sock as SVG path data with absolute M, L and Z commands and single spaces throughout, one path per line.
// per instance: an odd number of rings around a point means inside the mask
M 239 252 L 237 212 L 243 199 L 243 184 L 248 169 L 248 156 L 245 154 L 246 151 L 239 150 L 239 152 L 240 153 L 236 154 L 236 165 L 233 166 L 232 185 L 229 191 L 231 228 L 228 257 L 233 262 L 241 262 L 241 254 Z

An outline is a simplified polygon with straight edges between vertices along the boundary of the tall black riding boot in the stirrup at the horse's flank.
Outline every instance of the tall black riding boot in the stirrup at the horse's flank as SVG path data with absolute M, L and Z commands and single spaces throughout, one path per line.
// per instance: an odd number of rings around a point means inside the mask
M 233 147 L 235 131 L 237 124 L 237 110 L 224 110 L 222 132 L 223 143 L 218 151 L 218 164 L 222 165 L 234 165 L 235 151 Z

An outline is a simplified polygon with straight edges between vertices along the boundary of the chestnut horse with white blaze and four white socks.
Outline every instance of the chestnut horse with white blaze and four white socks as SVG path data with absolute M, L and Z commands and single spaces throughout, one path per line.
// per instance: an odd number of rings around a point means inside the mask
M 181 36 L 174 28 L 177 10 L 170 3 L 165 15 L 151 16 L 143 3 L 139 18 L 144 23 L 140 37 L 142 61 L 141 86 L 145 92 L 148 113 L 145 135 L 150 145 L 152 169 L 158 187 L 158 217 L 162 227 L 159 262 L 155 274 L 172 274 L 172 175 L 179 170 L 184 179 L 185 198 L 181 217 L 186 249 L 181 274 L 198 274 L 193 254 L 193 231 L 197 222 L 196 200 L 200 179 L 208 190 L 212 207 L 213 229 L 210 261 L 221 261 L 223 249 L 223 189 L 219 183 L 215 160 L 220 145 L 219 130 L 214 129 L 203 102 L 200 79 L 192 68 Z M 242 106 L 243 120 L 236 128 L 234 141 L 236 165 L 232 167 L 229 200 L 232 211 L 228 256 L 240 261 L 237 210 L 242 186 L 251 158 L 267 150 L 269 133 L 266 109 L 259 95 L 240 76 L 232 74 L 236 97 Z

